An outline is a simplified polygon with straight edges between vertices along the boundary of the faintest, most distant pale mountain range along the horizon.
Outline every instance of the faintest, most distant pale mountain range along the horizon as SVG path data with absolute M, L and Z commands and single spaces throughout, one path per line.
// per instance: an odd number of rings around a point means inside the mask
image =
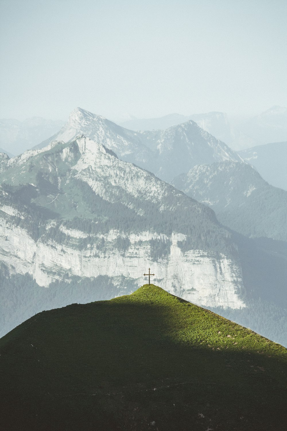
M 234 150 L 243 150 L 270 142 L 283 142 L 287 139 L 287 108 L 281 106 L 273 106 L 253 117 L 237 118 L 223 112 L 189 116 L 175 113 L 150 119 L 137 119 L 130 116 L 129 120 L 116 123 L 132 131 L 153 131 L 165 130 L 189 120 L 193 120 L 199 127 Z M 1 119 L 0 146 L 5 149 L 5 152 L 8 150 L 13 154 L 20 154 L 56 134 L 64 124 L 65 122 L 61 120 L 53 121 L 40 117 L 22 122 L 15 119 Z

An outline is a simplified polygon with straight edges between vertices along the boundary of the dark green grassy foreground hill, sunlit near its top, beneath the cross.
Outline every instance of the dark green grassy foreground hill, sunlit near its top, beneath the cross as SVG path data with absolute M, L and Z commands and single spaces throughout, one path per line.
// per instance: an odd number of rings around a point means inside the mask
M 287 350 L 145 284 L 0 339 L 7 430 L 283 430 Z

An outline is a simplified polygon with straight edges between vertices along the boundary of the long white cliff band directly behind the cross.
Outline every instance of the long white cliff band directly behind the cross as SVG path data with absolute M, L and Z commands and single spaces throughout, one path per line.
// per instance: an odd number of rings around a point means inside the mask
M 83 237 L 76 230 L 66 234 Z M 111 241 L 118 235 L 117 231 L 105 235 L 105 253 L 94 245 L 79 250 L 73 247 L 73 240 L 69 246 L 53 241 L 35 242 L 27 231 L 0 218 L 0 260 L 11 273 L 31 274 L 37 284 L 46 287 L 66 273 L 80 277 L 123 275 L 141 286 L 146 281 L 143 273 L 150 267 L 155 274 L 155 284 L 195 304 L 234 309 L 245 306 L 237 293 L 242 285 L 241 270 L 225 256 L 216 259 L 200 250 L 183 254 L 177 241 L 184 240 L 185 235 L 173 233 L 169 238 L 172 242 L 170 255 L 153 262 L 148 241 L 159 237 L 168 239 L 166 235 L 130 234 L 130 247 L 126 252 L 111 247 Z

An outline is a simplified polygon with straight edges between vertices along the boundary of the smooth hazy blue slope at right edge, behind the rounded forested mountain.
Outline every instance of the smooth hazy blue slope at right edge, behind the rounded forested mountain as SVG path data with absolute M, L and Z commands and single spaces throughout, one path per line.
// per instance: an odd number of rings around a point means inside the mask
M 259 145 L 238 154 L 272 186 L 287 190 L 287 141 Z

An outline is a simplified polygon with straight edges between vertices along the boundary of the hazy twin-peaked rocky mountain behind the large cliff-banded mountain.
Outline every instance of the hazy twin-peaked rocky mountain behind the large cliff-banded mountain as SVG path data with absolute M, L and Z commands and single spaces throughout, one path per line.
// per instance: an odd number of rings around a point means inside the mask
M 196 164 L 240 160 L 240 156 L 192 120 L 164 131 L 135 132 L 81 108 L 71 112 L 68 123 L 35 148 L 53 140 L 68 142 L 83 134 L 114 151 L 120 159 L 148 169 L 164 181 L 188 172 Z

